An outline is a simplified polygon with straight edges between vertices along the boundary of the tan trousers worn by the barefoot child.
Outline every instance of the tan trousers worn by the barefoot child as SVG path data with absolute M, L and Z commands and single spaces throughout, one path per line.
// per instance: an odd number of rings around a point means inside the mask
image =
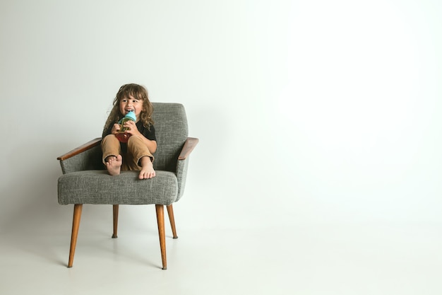
M 120 141 L 114 134 L 109 134 L 104 137 L 101 143 L 101 149 L 103 152 L 103 163 L 108 156 L 117 156 L 121 154 Z M 141 166 L 139 166 L 138 163 L 144 156 L 148 156 L 150 161 L 153 161 L 153 155 L 143 143 L 143 139 L 134 135 L 129 137 L 126 154 L 121 154 L 121 156 L 123 157 L 123 164 L 121 165 L 122 171 L 140 170 Z

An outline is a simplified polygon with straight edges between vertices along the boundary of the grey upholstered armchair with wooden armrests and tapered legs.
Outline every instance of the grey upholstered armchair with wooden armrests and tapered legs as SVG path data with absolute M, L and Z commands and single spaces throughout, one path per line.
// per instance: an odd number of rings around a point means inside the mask
M 155 204 L 162 269 L 167 269 L 164 206 L 167 207 L 172 235 L 177 238 L 172 204 L 184 192 L 189 154 L 198 139 L 188 137 L 184 106 L 178 103 L 153 103 L 157 137 L 155 178 L 139 180 L 137 171 L 108 175 L 102 163 L 101 138 L 59 156 L 63 175 L 58 180 L 59 204 L 74 204 L 68 267 L 73 265 L 83 204 L 112 204 L 114 233 L 117 238 L 120 204 Z

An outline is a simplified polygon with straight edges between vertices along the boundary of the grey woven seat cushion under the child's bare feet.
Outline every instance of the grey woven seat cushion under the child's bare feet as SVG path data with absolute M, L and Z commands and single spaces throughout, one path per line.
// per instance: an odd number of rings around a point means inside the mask
M 61 175 L 59 204 L 162 204 L 175 202 L 177 176 L 156 170 L 152 179 L 138 179 L 139 171 L 109 175 L 106 170 L 83 170 Z

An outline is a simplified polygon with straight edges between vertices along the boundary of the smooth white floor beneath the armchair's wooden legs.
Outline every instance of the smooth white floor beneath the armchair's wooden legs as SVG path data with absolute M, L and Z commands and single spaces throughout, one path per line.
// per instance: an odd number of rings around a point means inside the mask
M 441 225 L 203 230 L 177 220 L 161 270 L 154 214 L 143 225 L 120 215 L 112 239 L 111 219 L 92 224 L 93 213 L 83 210 L 70 269 L 71 216 L 3 229 L 0 294 L 442 294 Z

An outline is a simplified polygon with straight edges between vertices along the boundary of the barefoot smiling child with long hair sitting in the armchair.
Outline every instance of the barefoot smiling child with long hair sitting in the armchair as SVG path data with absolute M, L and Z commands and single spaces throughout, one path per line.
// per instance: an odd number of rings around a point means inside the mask
M 153 153 L 157 150 L 157 141 L 148 91 L 137 84 L 123 85 L 113 105 L 104 125 L 101 144 L 102 161 L 107 172 L 119 175 L 120 170 L 140 170 L 140 179 L 155 177 Z M 128 121 L 123 126 L 119 125 L 117 122 L 130 111 L 135 113 L 136 122 Z M 122 127 L 129 128 L 125 131 L 130 134 L 127 143 L 120 142 L 116 137 Z

